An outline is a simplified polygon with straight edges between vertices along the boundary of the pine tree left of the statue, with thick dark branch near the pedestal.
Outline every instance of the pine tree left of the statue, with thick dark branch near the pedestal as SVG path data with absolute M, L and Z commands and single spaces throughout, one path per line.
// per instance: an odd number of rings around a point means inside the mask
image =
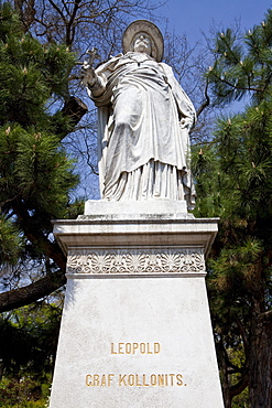
M 65 282 L 66 260 L 52 238 L 51 219 L 67 215 L 78 181 L 62 147 L 86 111 L 78 105 L 73 111 L 75 98 L 67 94 L 74 64 L 66 46 L 41 44 L 22 32 L 9 3 L 0 7 L 0 267 L 4 275 L 15 265 L 18 273 L 21 265 L 35 262 L 46 271 L 25 290 L 2 293 L 1 311 Z

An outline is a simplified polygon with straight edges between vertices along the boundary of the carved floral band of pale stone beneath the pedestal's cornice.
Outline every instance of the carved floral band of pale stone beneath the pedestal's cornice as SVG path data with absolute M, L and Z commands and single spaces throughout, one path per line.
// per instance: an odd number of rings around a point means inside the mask
M 202 248 L 73 249 L 67 273 L 205 273 Z

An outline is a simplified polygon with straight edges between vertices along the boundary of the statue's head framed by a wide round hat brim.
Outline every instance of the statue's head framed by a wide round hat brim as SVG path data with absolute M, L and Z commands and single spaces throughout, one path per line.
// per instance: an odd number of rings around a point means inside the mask
M 162 61 L 163 36 L 157 26 L 148 20 L 133 21 L 124 31 L 122 37 L 123 52 L 144 52 Z

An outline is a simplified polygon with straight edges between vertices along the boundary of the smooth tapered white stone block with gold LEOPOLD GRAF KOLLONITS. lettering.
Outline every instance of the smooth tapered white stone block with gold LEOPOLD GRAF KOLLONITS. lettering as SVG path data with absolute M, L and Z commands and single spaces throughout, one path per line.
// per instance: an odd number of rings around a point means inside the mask
M 204 277 L 68 279 L 51 407 L 222 407 Z

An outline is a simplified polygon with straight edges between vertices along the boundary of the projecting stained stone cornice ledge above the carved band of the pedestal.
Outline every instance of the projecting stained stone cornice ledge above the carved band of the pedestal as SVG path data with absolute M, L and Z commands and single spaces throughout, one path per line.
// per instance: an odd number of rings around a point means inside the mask
M 63 251 L 84 247 L 198 246 L 208 255 L 218 230 L 218 218 L 175 214 L 94 215 L 53 222 Z

